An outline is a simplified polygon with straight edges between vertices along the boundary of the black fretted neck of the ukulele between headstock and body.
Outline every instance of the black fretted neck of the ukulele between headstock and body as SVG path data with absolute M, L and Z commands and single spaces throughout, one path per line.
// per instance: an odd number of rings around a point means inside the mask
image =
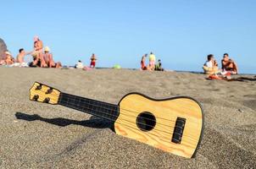
M 60 93 L 58 104 L 81 112 L 86 112 L 97 117 L 102 117 L 113 122 L 119 116 L 119 106 L 117 105 L 66 93 Z

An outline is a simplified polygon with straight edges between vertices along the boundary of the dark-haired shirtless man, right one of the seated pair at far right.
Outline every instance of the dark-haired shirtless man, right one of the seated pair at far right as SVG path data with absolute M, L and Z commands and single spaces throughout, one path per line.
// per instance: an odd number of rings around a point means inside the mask
M 238 74 L 237 63 L 229 58 L 228 53 L 224 53 L 221 63 L 223 71 L 230 72 L 231 74 Z

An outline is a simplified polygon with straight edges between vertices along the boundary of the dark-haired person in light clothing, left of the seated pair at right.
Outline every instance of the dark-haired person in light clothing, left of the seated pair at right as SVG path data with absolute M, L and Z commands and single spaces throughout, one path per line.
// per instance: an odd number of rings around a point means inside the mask
M 218 63 L 213 54 L 207 56 L 207 61 L 203 64 L 203 70 L 205 74 L 217 74 L 219 72 Z

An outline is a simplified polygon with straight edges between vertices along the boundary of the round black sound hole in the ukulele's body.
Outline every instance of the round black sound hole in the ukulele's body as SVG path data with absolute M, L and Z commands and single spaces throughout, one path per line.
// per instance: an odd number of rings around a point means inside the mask
M 136 117 L 136 125 L 143 132 L 148 132 L 155 127 L 156 118 L 150 112 L 142 112 Z

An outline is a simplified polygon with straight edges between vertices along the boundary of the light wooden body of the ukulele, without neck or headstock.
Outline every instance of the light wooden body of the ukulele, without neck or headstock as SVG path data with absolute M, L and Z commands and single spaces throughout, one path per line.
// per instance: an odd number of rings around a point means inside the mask
M 203 109 L 197 101 L 189 97 L 153 100 L 131 93 L 123 97 L 119 108 L 120 116 L 114 123 L 116 134 L 186 158 L 195 155 L 203 134 Z M 144 119 L 140 121 L 140 117 Z M 181 142 L 175 143 L 172 139 L 179 119 L 186 123 Z M 152 128 L 141 128 L 140 122 Z

